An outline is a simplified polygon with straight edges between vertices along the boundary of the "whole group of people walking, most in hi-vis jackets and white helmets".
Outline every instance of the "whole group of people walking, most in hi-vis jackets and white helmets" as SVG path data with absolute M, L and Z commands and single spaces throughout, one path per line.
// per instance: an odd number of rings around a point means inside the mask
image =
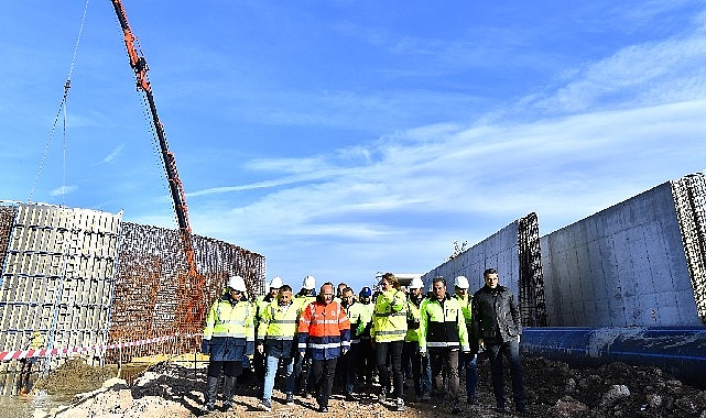
M 520 311 L 514 295 L 500 286 L 498 272 L 484 272 L 485 286 L 473 296 L 468 279 L 454 279 L 447 289 L 435 277 L 428 292 L 416 277 L 402 288 L 391 273 L 381 276 L 376 289 L 362 287 L 356 295 L 341 283 L 316 282 L 306 276 L 297 294 L 274 277 L 264 297 L 249 300 L 240 276 L 231 276 L 224 294 L 210 307 L 202 351 L 210 355 L 205 407 L 216 408 L 221 372 L 222 407 L 232 407 L 238 376 L 254 369 L 259 386 L 258 409 L 272 409 L 278 371 L 282 370 L 284 403 L 294 394 L 316 396 L 319 413 L 328 411 L 335 384 L 347 400 L 374 395 L 404 410 L 405 384 L 414 400 L 448 405 L 459 414 L 459 370 L 465 370 L 467 403 L 478 404 L 477 354 L 489 360 L 496 409 L 506 410 L 503 358 L 509 361 L 515 410 L 528 410 L 520 366 Z M 373 382 L 379 384 L 372 394 Z M 410 385 L 410 381 L 412 384 Z M 297 389 L 298 386 L 298 389 Z

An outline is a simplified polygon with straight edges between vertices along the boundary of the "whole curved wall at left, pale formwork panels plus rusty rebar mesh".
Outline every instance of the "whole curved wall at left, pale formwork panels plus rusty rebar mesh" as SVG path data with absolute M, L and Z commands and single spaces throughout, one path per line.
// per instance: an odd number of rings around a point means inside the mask
M 182 334 L 94 353 L 108 360 L 183 352 L 198 343 L 183 336 L 203 331 L 229 275 L 241 275 L 250 295 L 264 292 L 264 257 L 237 245 L 193 235 L 192 275 L 177 230 L 121 222 L 121 213 L 2 204 L 0 351 L 28 349 L 39 330 L 48 349 Z

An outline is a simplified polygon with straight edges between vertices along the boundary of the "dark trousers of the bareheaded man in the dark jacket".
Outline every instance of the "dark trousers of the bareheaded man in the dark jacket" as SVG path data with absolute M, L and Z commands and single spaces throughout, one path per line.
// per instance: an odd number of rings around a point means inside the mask
M 490 358 L 490 370 L 492 376 L 492 393 L 496 395 L 496 404 L 504 406 L 504 384 L 502 382 L 503 364 L 502 358 L 510 362 L 510 376 L 512 377 L 512 398 L 515 408 L 524 407 L 524 384 L 522 382 L 522 366 L 520 365 L 520 343 L 517 339 L 502 343 L 490 343 L 488 355 Z

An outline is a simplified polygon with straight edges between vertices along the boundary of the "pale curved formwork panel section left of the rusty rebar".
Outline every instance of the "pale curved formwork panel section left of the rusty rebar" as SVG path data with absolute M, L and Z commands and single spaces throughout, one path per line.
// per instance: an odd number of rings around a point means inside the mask
M 33 331 L 48 349 L 106 343 L 121 213 L 12 208 L 2 217 L 0 349 L 28 349 Z

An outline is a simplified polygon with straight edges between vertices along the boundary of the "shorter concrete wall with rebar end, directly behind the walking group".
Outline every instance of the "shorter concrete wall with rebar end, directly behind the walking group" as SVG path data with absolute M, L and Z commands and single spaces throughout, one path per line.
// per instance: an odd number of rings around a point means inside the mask
M 464 275 L 468 278 L 469 292 L 475 293 L 485 285 L 484 271 L 496 268 L 500 284 L 518 297 L 522 323 L 546 326 L 539 245 L 539 221 L 535 213 L 530 213 L 424 274 L 422 279 L 428 286 L 434 277 L 443 276 L 453 293 L 454 278 Z

